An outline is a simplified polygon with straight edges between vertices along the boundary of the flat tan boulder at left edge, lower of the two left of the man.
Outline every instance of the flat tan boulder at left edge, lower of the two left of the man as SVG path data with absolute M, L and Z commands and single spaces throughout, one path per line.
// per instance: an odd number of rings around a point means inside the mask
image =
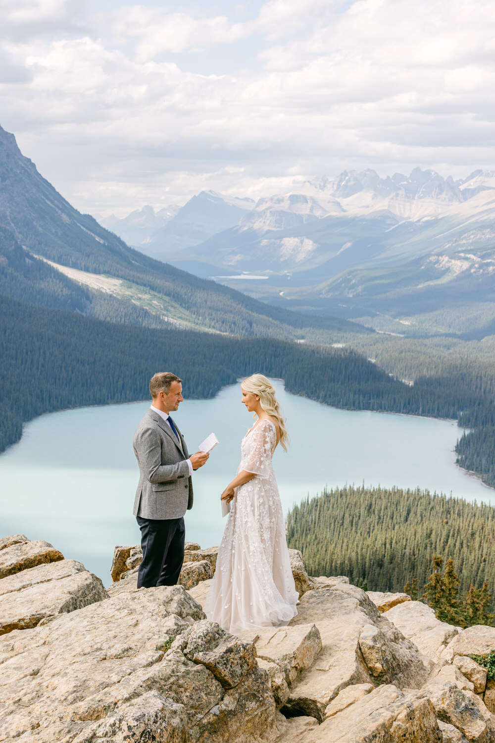
M 54 614 L 64 614 L 108 598 L 99 578 L 75 560 L 36 565 L 0 580 L 0 635 L 36 627 Z

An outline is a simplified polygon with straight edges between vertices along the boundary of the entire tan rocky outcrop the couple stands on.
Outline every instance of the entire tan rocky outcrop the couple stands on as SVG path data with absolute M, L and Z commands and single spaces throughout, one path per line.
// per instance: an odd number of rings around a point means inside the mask
M 201 609 L 216 548 L 187 548 L 187 590 L 137 590 L 139 548 L 119 547 L 105 591 L 47 542 L 1 539 L 4 741 L 495 741 L 495 682 L 469 657 L 494 649 L 495 628 L 462 630 L 406 594 L 310 578 L 292 551 L 298 616 L 229 635 Z M 25 629 L 5 621 L 27 606 L 39 611 Z

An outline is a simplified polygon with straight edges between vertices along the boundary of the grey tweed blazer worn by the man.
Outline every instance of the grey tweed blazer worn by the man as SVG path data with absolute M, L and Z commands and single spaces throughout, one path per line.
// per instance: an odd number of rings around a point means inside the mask
M 189 452 L 179 429 L 177 432 L 183 452 L 171 427 L 151 408 L 137 426 L 133 445 L 140 466 L 140 481 L 134 499 L 134 516 L 180 519 L 192 508 L 192 482 L 186 462 Z

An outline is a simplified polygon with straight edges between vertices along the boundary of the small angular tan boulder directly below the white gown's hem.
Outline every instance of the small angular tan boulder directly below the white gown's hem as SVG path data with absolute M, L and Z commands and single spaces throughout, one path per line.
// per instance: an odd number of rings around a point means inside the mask
M 321 651 L 320 632 L 314 624 L 248 630 L 241 637 L 255 643 L 258 658 L 279 666 L 287 684 L 310 668 Z

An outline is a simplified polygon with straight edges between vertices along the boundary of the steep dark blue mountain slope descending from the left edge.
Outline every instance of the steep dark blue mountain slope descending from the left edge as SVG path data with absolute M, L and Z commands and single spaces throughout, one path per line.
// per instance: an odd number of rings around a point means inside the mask
M 269 307 L 128 247 L 93 217 L 74 209 L 22 155 L 13 134 L 1 128 L 0 225 L 10 230 L 26 251 L 24 263 L 19 260 L 15 267 L 18 278 L 24 277 L 19 281 L 36 285 L 39 279 L 27 271 L 26 259 L 41 258 L 65 276 L 60 282 L 71 288 L 74 297 L 79 296 L 77 301 L 82 302 L 84 296 L 88 305 L 85 314 L 101 319 L 327 343 L 335 340 L 335 333 L 363 331 L 342 319 L 310 319 L 285 308 Z M 9 258 L 4 256 L 0 272 L 11 270 Z M 4 279 L 4 291 L 19 296 L 12 288 L 13 276 L 9 276 Z M 81 286 L 85 294 L 80 293 Z M 57 291 L 53 289 L 51 297 L 33 292 L 29 301 L 54 306 L 53 292 Z

